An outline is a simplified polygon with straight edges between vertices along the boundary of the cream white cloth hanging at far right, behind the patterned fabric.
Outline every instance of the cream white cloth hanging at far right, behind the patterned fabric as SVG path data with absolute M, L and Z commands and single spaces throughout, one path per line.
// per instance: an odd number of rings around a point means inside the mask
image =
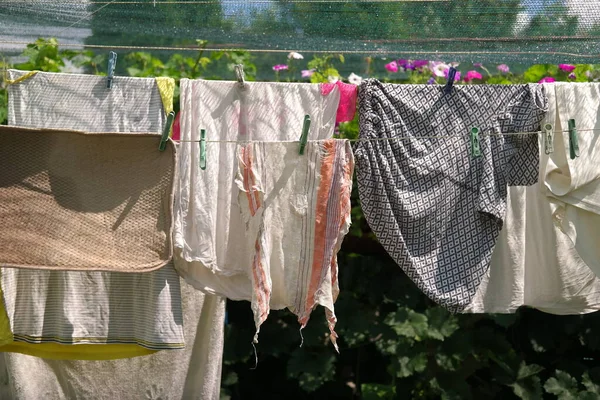
M 552 124 L 554 151 L 546 154 L 542 134 L 540 182 L 509 188 L 506 229 L 466 312 L 510 313 L 522 305 L 552 314 L 600 310 L 600 278 L 594 273 L 600 271 L 600 248 L 585 244 L 587 235 L 594 240 L 600 223 L 586 206 L 598 196 L 594 187 L 597 164 L 589 159 L 597 152 L 598 133 L 588 129 L 599 128 L 595 121 L 599 88 L 597 84 L 545 85 L 548 114 L 544 126 Z M 579 135 L 581 157 L 576 160 L 570 159 L 568 132 L 562 132 L 568 130 L 572 118 L 585 128 Z M 584 205 L 579 207 L 579 203 Z M 575 218 L 561 218 L 565 215 Z M 574 238 L 580 240 L 573 241 L 567 233 L 575 233 Z

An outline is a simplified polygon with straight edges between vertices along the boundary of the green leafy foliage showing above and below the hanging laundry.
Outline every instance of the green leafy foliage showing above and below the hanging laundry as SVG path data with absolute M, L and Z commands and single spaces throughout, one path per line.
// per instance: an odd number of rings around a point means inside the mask
M 257 67 L 250 54 L 231 51 L 159 57 L 120 56 L 133 76 L 233 79 L 244 64 L 247 78 Z M 55 41 L 38 40 L 17 67 L 64 71 L 72 65 L 102 74 L 104 55 L 62 51 Z M 275 60 L 275 62 L 281 60 Z M 313 82 L 340 77 L 339 55 L 293 61 L 314 69 Z M 292 61 L 287 61 L 292 62 Z M 387 60 L 386 62 L 389 62 Z M 369 69 L 383 68 L 367 60 Z M 72 65 L 71 65 L 72 64 Z M 2 67 L 9 67 L 3 62 Z M 554 65 L 536 65 L 523 74 L 489 73 L 476 83 L 537 82 L 546 76 L 570 80 Z M 288 70 L 289 71 L 289 70 Z M 577 81 L 600 79 L 596 65 L 578 65 Z M 390 81 L 423 83 L 426 70 L 390 74 Z M 572 80 L 572 79 L 571 79 Z M 439 83 L 442 83 L 440 80 Z M 0 86 L 0 120 L 6 118 L 6 82 Z M 339 127 L 340 137 L 356 138 L 355 119 Z M 335 353 L 323 311 L 318 308 L 302 331 L 287 311 L 272 311 L 261 327 L 258 365 L 251 346 L 255 333 L 250 307 L 229 302 L 222 394 L 227 399 L 583 399 L 600 400 L 600 315 L 555 316 L 528 308 L 514 315 L 453 315 L 433 304 L 393 263 L 370 231 L 352 191 L 350 233 L 339 253 L 341 292 L 336 303 L 340 354 Z

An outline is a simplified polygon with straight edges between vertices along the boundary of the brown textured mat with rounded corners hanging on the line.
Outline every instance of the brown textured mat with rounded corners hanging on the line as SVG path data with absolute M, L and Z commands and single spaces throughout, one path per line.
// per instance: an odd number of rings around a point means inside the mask
M 149 272 L 172 257 L 175 147 L 0 127 L 0 266 Z

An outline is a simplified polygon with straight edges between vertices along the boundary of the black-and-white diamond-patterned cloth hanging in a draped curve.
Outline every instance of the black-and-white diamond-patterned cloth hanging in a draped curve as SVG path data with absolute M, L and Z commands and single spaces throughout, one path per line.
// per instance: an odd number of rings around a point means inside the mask
M 486 273 L 502 228 L 507 185 L 538 177 L 539 85 L 363 82 L 355 150 L 369 226 L 432 300 L 459 312 Z M 480 156 L 469 132 L 480 132 Z M 394 140 L 393 138 L 398 138 Z M 383 140 L 382 140 L 383 139 Z M 392 139 L 392 140 L 389 140 Z

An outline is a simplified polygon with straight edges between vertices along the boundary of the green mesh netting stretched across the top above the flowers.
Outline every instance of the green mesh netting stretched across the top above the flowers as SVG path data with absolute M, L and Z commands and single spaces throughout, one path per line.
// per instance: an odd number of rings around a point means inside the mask
M 106 52 L 111 46 L 181 52 L 205 39 L 208 48 L 259 54 L 600 61 L 598 0 L 2 0 L 0 21 L 0 51 L 9 55 L 38 37 L 56 37 Z

